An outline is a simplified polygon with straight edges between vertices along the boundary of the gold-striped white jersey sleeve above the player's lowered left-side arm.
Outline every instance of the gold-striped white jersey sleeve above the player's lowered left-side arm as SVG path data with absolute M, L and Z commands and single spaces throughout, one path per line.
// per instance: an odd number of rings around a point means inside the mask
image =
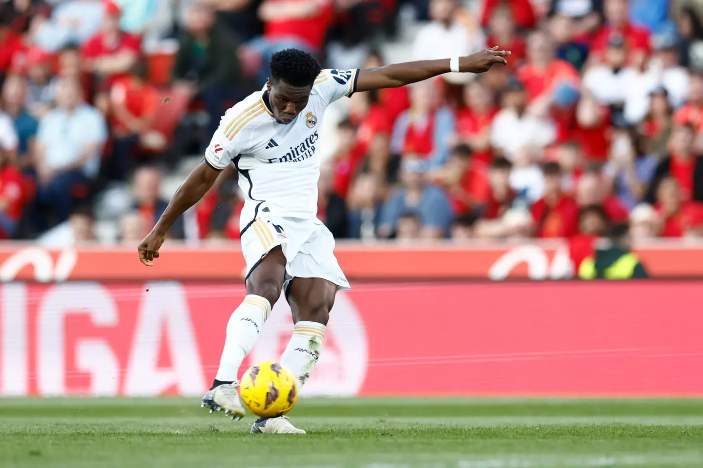
M 245 109 L 232 109 L 221 119 L 217 131 L 205 150 L 205 161 L 216 171 L 229 166 L 238 154 L 250 149 L 251 129 L 247 123 L 264 113 L 261 101 Z

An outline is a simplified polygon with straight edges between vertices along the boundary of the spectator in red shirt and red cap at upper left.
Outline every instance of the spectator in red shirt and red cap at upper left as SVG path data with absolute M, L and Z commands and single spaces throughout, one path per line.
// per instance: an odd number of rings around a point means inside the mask
M 139 55 L 139 39 L 120 30 L 120 6 L 108 1 L 100 31 L 81 48 L 83 67 L 101 82 L 100 91 L 126 76 Z

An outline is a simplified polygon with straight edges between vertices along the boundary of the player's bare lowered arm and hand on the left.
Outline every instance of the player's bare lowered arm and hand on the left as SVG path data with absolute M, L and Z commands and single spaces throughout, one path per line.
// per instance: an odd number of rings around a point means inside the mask
M 159 248 L 166 240 L 166 233 L 169 232 L 169 229 L 171 229 L 180 215 L 202 199 L 202 196 L 212 187 L 220 173 L 221 171 L 215 171 L 203 160 L 197 168 L 193 169 L 193 172 L 188 174 L 181 187 L 176 190 L 169 202 L 169 206 L 166 207 L 154 229 L 151 229 L 151 232 L 147 234 L 137 248 L 139 260 L 144 265 L 148 267 L 153 266 L 152 260 L 159 257 Z

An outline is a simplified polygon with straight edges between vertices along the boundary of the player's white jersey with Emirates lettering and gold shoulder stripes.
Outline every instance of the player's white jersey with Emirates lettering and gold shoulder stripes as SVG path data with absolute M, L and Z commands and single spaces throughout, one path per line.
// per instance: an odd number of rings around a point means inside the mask
M 320 156 L 315 143 L 325 109 L 356 91 L 358 69 L 324 69 L 308 104 L 288 125 L 277 123 L 264 88 L 225 112 L 205 152 L 217 170 L 234 163 L 244 194 L 240 230 L 259 216 L 316 218 Z

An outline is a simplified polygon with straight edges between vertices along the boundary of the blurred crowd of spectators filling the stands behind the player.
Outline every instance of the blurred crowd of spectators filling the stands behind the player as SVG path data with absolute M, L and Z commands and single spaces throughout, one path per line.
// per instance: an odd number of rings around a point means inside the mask
M 703 236 L 702 13 L 691 0 L 5 0 L 0 237 L 91 241 L 97 217 L 140 240 L 167 205 L 162 181 L 263 86 L 273 51 L 380 67 L 408 22 L 406 59 L 512 55 L 330 106 L 318 217 L 337 239 Z M 228 168 L 171 236 L 238 239 L 242 203 Z

